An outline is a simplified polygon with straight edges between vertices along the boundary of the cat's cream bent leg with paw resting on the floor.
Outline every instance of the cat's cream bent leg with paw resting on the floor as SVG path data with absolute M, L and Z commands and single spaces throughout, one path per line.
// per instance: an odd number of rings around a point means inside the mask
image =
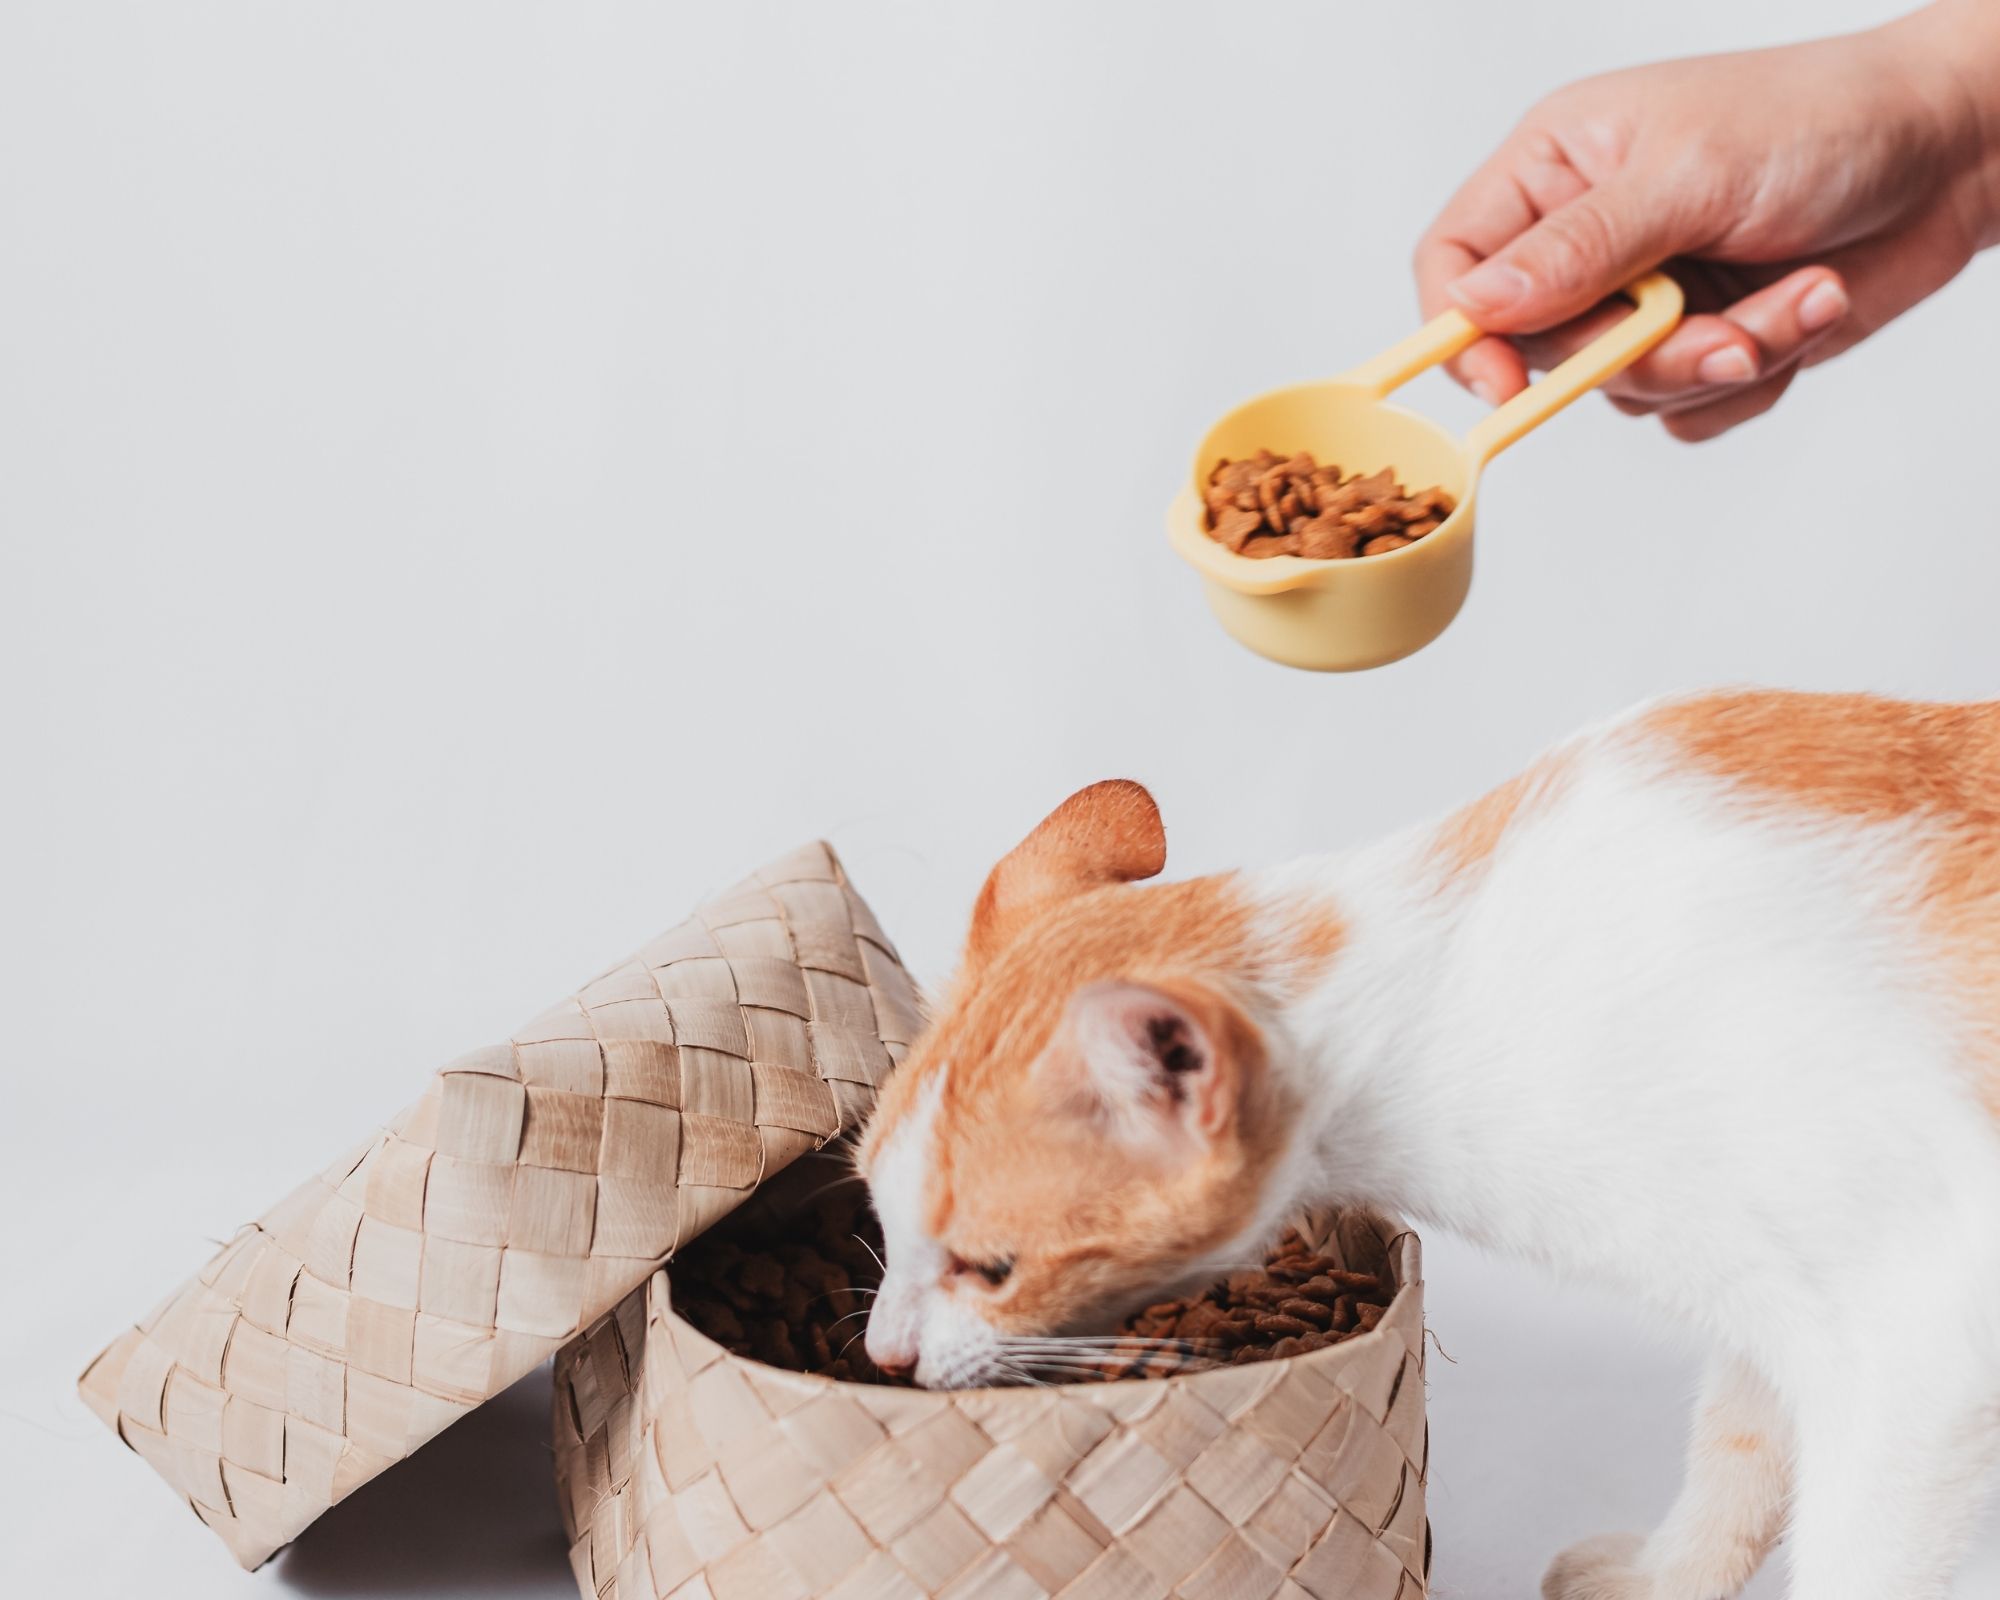
M 1790 1426 L 1770 1386 L 1730 1356 L 1702 1380 L 1680 1498 L 1650 1538 L 1610 1534 L 1564 1550 L 1546 1600 L 1726 1600 L 1784 1526 Z

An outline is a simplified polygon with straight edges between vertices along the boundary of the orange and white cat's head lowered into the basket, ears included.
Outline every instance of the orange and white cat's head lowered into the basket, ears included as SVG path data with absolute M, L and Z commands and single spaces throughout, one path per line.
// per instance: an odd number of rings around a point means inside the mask
M 1232 878 L 1166 864 L 1094 784 L 986 880 L 946 1004 L 862 1140 L 886 1244 L 870 1358 L 930 1388 L 1058 1368 L 1050 1336 L 1254 1258 L 1292 1124 Z M 1074 1348 L 1072 1348 L 1074 1350 Z

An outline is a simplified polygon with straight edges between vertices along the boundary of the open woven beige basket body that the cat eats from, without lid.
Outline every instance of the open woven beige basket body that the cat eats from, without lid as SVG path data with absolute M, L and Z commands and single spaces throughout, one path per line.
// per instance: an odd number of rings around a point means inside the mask
M 810 1202 L 806 1178 L 768 1188 Z M 798 1214 L 780 1194 L 768 1204 Z M 738 1226 L 758 1228 L 752 1208 L 718 1234 Z M 1422 1250 L 1362 1212 L 1302 1232 L 1394 1284 L 1372 1332 L 1028 1388 L 766 1366 L 680 1318 L 662 1268 L 556 1358 L 556 1486 L 582 1594 L 1422 1600 Z

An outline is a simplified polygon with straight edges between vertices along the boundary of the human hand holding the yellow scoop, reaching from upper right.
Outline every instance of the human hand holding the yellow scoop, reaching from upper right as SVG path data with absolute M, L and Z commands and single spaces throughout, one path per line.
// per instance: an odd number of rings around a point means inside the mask
M 1690 314 L 1606 384 L 1706 440 L 1770 410 L 2000 234 L 2000 6 L 1586 78 L 1522 118 L 1416 248 L 1424 314 L 1490 338 L 1452 362 L 1498 404 L 1670 264 Z M 1512 338 L 1500 338 L 1502 334 Z

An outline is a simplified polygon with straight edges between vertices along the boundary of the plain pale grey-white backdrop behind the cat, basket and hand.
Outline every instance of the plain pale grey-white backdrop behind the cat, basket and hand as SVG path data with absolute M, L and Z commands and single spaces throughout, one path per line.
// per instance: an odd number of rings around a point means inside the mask
M 1536 94 L 1884 14 L 8 0 L 0 1588 L 570 1594 L 532 1382 L 256 1578 L 70 1386 L 802 838 L 938 978 L 1094 778 L 1202 872 L 1660 690 L 2000 692 L 1992 260 L 1720 444 L 1588 402 L 1518 446 L 1406 664 L 1252 658 L 1162 540 L 1214 412 L 1412 326 Z M 1530 1596 L 1666 1504 L 1692 1368 L 1448 1240 L 1430 1284 L 1436 1590 Z

